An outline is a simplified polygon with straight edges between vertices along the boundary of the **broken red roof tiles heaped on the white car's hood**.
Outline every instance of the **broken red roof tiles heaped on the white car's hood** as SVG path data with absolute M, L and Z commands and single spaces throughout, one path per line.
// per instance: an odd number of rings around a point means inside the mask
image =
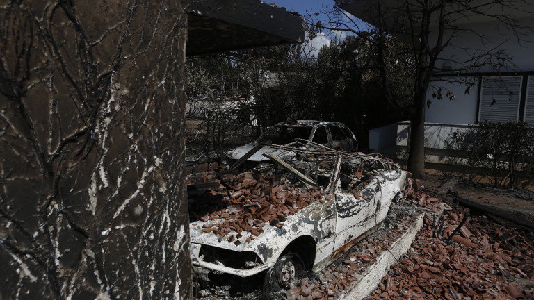
M 193 179 L 190 183 L 195 181 L 199 179 Z M 327 201 L 323 199 L 325 193 L 318 188 L 294 188 L 272 176 L 254 179 L 252 173 L 245 173 L 218 180 L 211 174 L 200 178 L 200 181 L 217 181 L 219 186 L 208 191 L 211 197 L 189 203 L 189 217 L 191 222 L 221 219 L 207 222 L 202 229 L 205 233 L 218 235 L 219 242 L 251 242 L 264 232 L 266 224 L 282 228 L 290 215 L 314 201 Z M 241 239 L 243 236 L 245 238 Z

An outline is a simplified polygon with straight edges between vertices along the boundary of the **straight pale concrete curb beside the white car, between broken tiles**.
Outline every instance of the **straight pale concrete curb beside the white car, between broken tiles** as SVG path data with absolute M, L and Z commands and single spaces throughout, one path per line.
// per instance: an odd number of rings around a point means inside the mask
M 423 226 L 424 217 L 425 213 L 421 213 L 416 217 L 412 226 L 407 229 L 401 238 L 398 238 L 398 240 L 391 244 L 389 251 L 382 252 L 376 259 L 374 265 L 369 266 L 366 272 L 358 276 L 358 281 L 356 281 L 353 288 L 350 288 L 345 294 L 340 295 L 341 297 L 339 299 L 363 299 L 369 293 L 373 292 L 380 284 L 382 278 L 389 272 L 391 265 L 396 264 L 398 259 L 410 249 L 416 234 Z

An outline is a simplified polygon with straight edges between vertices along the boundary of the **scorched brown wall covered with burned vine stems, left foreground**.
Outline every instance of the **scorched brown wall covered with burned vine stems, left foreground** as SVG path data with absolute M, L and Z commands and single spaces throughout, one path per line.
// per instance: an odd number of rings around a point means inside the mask
M 0 299 L 189 299 L 184 1 L 0 0 Z

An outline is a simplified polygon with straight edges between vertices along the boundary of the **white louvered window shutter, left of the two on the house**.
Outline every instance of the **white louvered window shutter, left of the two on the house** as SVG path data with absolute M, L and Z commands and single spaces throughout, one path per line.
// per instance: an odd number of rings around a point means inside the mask
M 521 76 L 483 77 L 478 121 L 517 121 L 521 82 Z

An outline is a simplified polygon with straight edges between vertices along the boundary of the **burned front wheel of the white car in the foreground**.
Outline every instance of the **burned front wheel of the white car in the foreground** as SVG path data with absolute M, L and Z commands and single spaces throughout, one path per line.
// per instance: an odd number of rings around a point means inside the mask
M 286 299 L 287 290 L 298 286 L 304 276 L 304 260 L 297 253 L 289 252 L 280 256 L 265 276 L 264 299 Z

